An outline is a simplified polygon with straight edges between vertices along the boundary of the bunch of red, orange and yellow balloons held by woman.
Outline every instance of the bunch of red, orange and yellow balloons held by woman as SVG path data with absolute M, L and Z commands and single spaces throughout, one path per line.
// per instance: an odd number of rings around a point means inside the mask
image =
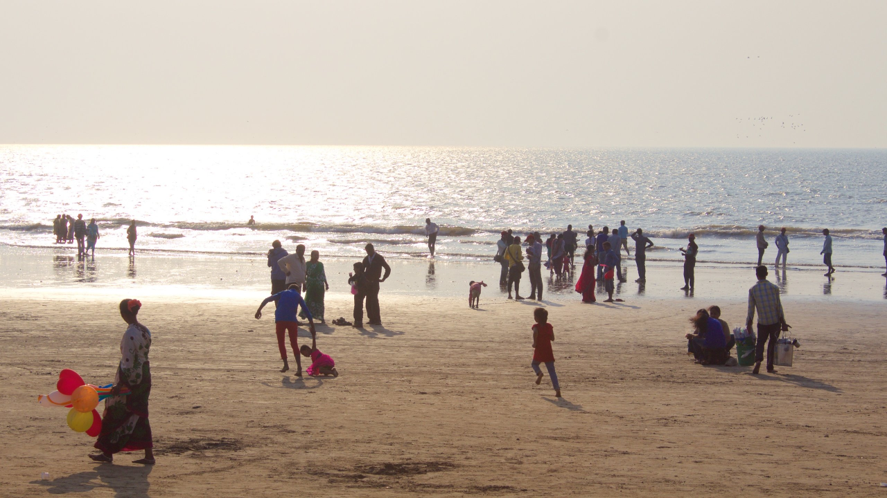
M 65 369 L 59 373 L 57 391 L 37 396 L 37 402 L 44 407 L 71 409 L 67 412 L 67 426 L 75 432 L 86 432 L 95 438 L 102 431 L 102 417 L 98 415 L 96 407 L 99 401 L 111 396 L 111 386 L 109 384 L 98 387 L 86 384 L 77 372 Z M 129 393 L 128 390 L 121 392 L 121 394 Z

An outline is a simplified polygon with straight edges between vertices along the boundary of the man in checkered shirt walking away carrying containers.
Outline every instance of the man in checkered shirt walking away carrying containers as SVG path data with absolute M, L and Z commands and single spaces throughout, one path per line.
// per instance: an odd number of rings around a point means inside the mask
M 788 331 L 789 324 L 785 323 L 785 315 L 782 313 L 782 302 L 779 299 L 779 287 L 767 281 L 767 267 L 759 266 L 755 269 L 757 284 L 749 289 L 749 315 L 745 319 L 745 327 L 751 330 L 751 322 L 757 309 L 757 347 L 755 348 L 755 370 L 751 373 L 757 375 L 761 370 L 761 362 L 764 361 L 764 345 L 767 344 L 767 372 L 776 373 L 773 370 L 773 352 L 776 349 L 776 339 L 780 331 Z

